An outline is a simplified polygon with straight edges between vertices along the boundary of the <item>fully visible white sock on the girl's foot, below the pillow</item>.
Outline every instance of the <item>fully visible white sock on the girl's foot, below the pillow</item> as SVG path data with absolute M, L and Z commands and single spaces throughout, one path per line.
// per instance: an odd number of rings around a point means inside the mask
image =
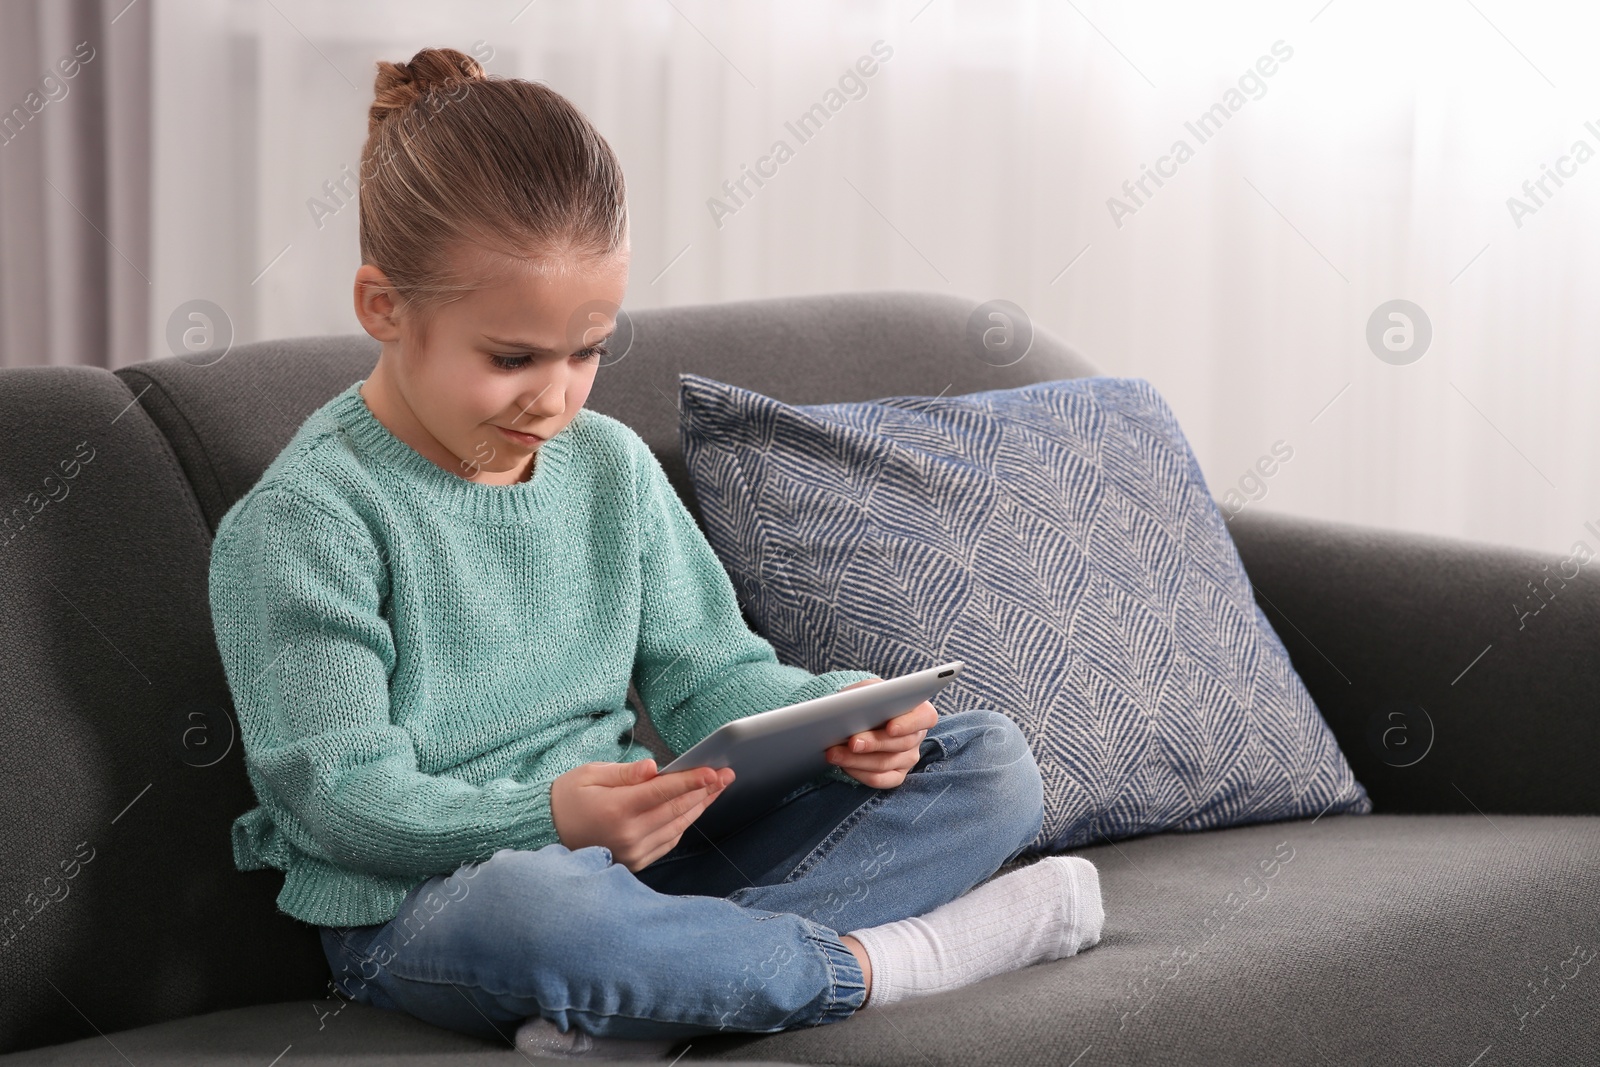
M 926 915 L 853 929 L 867 950 L 867 1008 L 979 982 L 1099 942 L 1099 870 L 1082 856 L 1045 856 Z

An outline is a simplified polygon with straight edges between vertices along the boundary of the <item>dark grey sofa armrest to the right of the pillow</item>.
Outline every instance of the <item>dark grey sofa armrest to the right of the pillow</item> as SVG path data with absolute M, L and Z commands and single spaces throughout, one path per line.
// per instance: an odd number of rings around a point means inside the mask
M 1254 510 L 1229 528 L 1374 811 L 1600 813 L 1600 523 L 1554 557 Z

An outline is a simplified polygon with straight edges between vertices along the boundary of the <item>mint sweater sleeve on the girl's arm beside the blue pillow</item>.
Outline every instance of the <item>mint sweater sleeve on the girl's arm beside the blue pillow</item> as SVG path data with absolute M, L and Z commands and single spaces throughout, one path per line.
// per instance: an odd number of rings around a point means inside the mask
M 661 739 L 685 752 L 723 723 L 834 693 L 870 670 L 778 662 L 739 613 L 733 582 L 656 454 L 638 442 L 642 611 L 634 688 Z

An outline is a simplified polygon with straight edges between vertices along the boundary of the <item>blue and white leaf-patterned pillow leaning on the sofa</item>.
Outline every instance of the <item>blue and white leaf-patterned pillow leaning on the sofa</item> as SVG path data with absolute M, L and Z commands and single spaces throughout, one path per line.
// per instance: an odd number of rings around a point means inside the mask
M 706 534 L 784 662 L 962 659 L 1045 779 L 1029 851 L 1368 813 L 1139 379 L 794 406 L 680 374 Z

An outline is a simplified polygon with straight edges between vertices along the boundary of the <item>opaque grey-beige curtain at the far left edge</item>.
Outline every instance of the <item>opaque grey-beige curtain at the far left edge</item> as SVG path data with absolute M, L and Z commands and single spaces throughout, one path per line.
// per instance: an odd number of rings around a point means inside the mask
M 0 366 L 147 358 L 150 5 L 0 0 Z

